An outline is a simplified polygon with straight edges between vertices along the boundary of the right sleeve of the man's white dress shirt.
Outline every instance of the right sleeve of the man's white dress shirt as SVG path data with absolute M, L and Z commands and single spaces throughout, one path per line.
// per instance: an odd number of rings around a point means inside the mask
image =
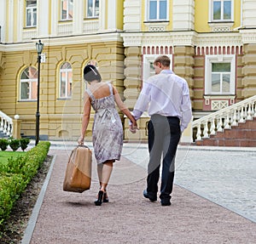
M 182 98 L 181 111 L 182 111 L 182 119 L 181 119 L 180 129 L 183 132 L 183 130 L 188 127 L 189 122 L 192 118 L 189 86 L 187 82 L 184 82 L 183 84 L 183 98 Z

